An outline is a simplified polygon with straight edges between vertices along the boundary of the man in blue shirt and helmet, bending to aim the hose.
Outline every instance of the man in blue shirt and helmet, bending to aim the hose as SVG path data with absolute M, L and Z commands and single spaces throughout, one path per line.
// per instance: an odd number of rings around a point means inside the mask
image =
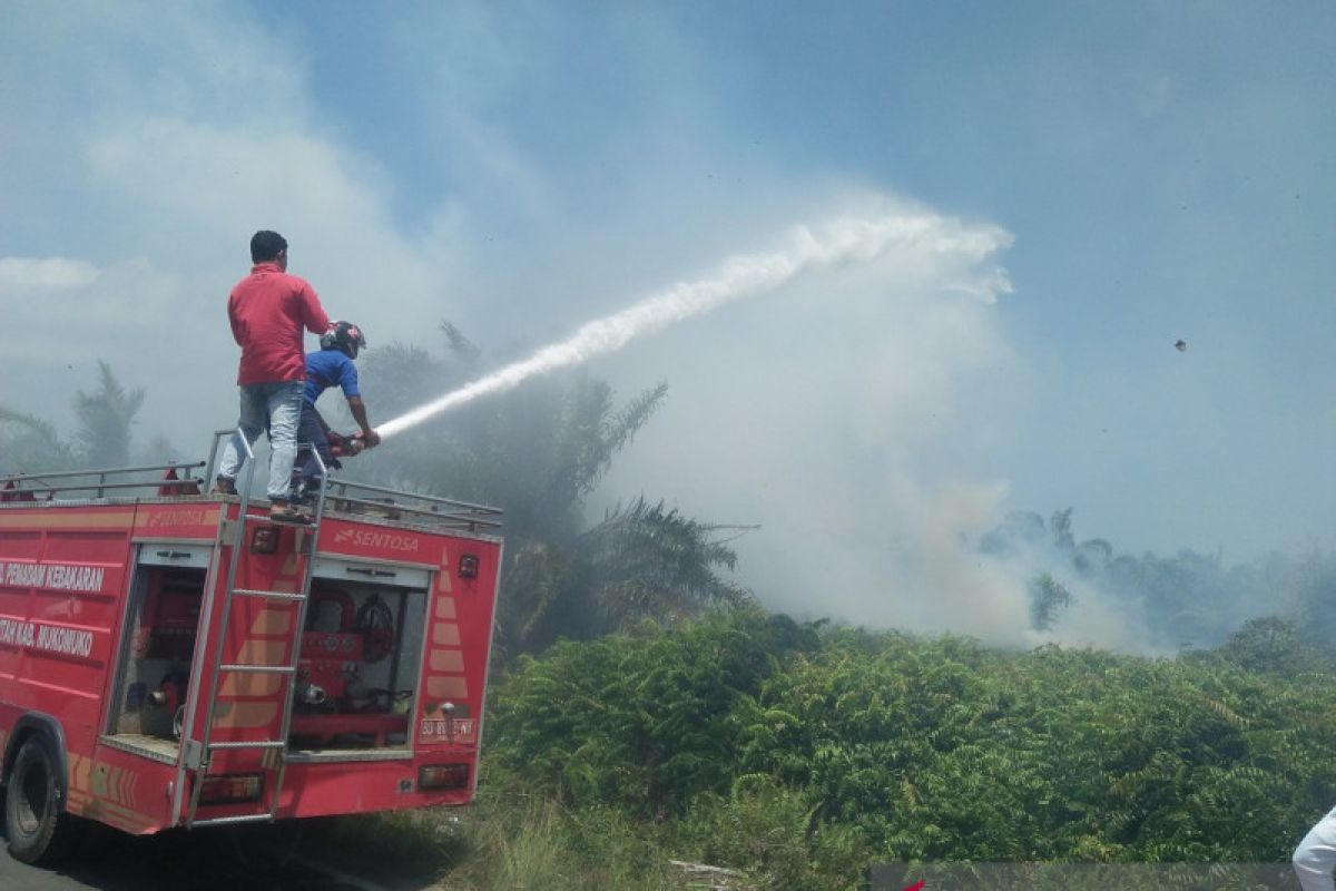
M 343 390 L 347 399 L 349 411 L 353 419 L 362 427 L 359 439 L 363 448 L 370 449 L 381 442 L 381 437 L 371 429 L 366 418 L 366 405 L 362 402 L 362 393 L 357 386 L 357 358 L 358 350 L 366 346 L 362 330 L 351 322 L 334 322 L 329 333 L 321 338 L 321 349 L 306 355 L 306 399 L 302 403 L 302 421 L 297 429 L 297 441 L 302 446 L 298 456 L 295 477 L 297 494 L 310 489 L 319 476 L 319 465 L 306 450 L 313 446 L 325 462 L 325 466 L 338 466 L 329 443 L 329 425 L 315 410 L 315 401 L 321 398 L 331 386 Z

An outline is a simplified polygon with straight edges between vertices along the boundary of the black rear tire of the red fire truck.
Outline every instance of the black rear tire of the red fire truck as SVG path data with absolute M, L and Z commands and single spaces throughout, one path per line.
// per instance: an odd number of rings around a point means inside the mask
M 56 759 L 41 737 L 19 749 L 4 796 L 9 854 L 23 863 L 53 863 L 73 844 L 73 816 L 61 810 Z

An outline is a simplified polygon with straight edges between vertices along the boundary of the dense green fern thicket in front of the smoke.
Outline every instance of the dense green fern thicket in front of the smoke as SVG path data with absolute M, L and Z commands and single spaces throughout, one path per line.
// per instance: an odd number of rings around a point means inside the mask
M 1333 681 L 1279 621 L 1146 660 L 713 613 L 521 660 L 485 785 L 560 806 L 577 847 L 617 827 L 647 880 L 671 858 L 792 888 L 886 860 L 1277 862 L 1331 807 Z

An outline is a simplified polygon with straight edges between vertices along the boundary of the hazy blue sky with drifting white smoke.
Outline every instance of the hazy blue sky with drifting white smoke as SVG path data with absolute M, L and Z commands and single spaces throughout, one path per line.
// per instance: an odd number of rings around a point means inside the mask
M 103 358 L 202 457 L 257 228 L 374 349 L 538 346 L 795 224 L 927 220 L 990 247 L 592 362 L 671 387 L 596 506 L 760 524 L 780 606 L 978 631 L 961 541 L 1013 509 L 1336 544 L 1333 147 L 1329 0 L 4 0 L 0 405 L 68 427 Z

